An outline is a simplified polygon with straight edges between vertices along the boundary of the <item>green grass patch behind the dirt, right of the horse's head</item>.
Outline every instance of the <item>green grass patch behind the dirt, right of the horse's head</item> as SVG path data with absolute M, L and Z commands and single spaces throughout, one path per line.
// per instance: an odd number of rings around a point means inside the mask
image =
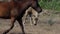
M 60 0 L 39 0 L 39 5 L 44 9 L 60 11 Z

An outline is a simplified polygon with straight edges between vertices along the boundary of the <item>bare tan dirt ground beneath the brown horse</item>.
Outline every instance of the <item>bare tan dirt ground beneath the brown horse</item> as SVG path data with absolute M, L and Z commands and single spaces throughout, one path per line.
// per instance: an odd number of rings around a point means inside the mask
M 47 11 L 47 10 L 46 10 Z M 53 24 L 50 26 L 50 24 Z M 0 34 L 9 29 L 10 20 L 0 19 Z M 24 26 L 26 34 L 60 34 L 60 15 L 50 12 L 43 12 L 40 15 L 38 24 L 31 25 L 28 21 Z M 8 34 L 22 34 L 18 22 L 15 22 L 14 28 Z

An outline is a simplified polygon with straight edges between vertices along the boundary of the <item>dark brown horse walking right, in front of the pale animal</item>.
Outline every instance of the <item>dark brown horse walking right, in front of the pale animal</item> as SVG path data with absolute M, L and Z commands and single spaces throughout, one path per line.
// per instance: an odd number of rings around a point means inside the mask
M 0 17 L 11 19 L 11 27 L 3 34 L 7 34 L 14 27 L 14 22 L 16 20 L 19 22 L 23 34 L 25 34 L 22 17 L 29 7 L 32 7 L 38 13 L 42 12 L 38 0 L 12 0 L 11 2 L 0 2 Z

